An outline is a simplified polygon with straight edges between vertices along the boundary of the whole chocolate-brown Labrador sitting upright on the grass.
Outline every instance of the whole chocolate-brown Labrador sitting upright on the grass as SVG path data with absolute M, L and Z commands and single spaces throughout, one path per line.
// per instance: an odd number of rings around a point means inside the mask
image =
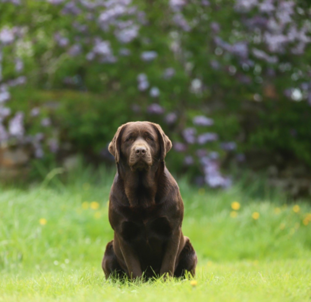
M 181 230 L 183 200 L 164 163 L 171 147 L 161 127 L 150 122 L 120 126 L 109 144 L 118 171 L 109 196 L 114 240 L 102 261 L 106 278 L 195 274 L 197 256 Z

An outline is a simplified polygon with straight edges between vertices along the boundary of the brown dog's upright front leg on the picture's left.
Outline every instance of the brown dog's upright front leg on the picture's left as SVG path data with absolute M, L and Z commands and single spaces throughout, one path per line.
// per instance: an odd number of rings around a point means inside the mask
M 129 244 L 119 236 L 118 242 L 125 264 L 128 269 L 128 277 L 131 278 L 131 280 L 142 277 L 142 268 L 140 265 L 140 261 L 138 259 L 137 253 L 134 251 L 131 244 Z

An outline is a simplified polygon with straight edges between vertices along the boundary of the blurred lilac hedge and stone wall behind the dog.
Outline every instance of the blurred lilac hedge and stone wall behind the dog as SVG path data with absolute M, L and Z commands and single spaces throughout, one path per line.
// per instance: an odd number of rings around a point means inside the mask
M 114 167 L 128 121 L 159 123 L 196 186 L 311 195 L 307 0 L 0 0 L 0 178 Z

